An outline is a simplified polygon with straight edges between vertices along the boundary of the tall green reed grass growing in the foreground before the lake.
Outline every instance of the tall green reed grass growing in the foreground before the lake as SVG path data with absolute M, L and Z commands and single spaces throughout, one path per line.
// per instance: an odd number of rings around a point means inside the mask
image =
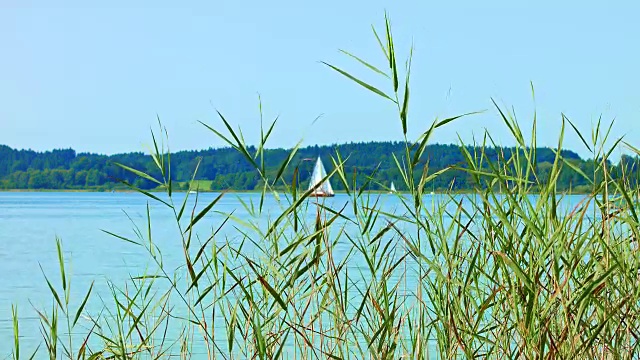
M 12 358 L 637 358 L 638 189 L 625 176 L 612 179 L 607 160 L 621 146 L 638 151 L 620 139 L 606 147 L 610 128 L 598 123 L 588 136 L 563 116 L 555 162 L 542 176 L 535 114 L 526 139 L 515 116 L 495 105 L 517 151 L 491 160 L 483 149 L 497 144 L 486 133 L 476 152 L 460 146 L 466 163 L 451 166 L 474 180 L 475 192 L 426 196 L 430 181 L 449 169 L 430 171 L 425 146 L 439 127 L 462 116 L 436 120 L 419 138 L 408 138 L 412 52 L 402 66 L 385 20 L 383 33 L 373 31 L 384 69 L 345 54 L 385 81 L 387 91 L 326 65 L 397 108 L 406 151 L 394 159 L 407 193 L 369 193 L 345 168 L 348 155 L 336 153 L 327 177 L 344 184 L 349 202 L 332 208 L 301 188 L 292 160 L 298 147 L 278 173 L 265 172 L 263 150 L 276 121 L 261 127 L 251 152 L 218 112 L 222 127 L 203 125 L 244 155 L 264 188 L 258 202 L 242 203 L 249 218 L 225 214 L 199 237 L 197 224 L 232 195 L 193 208 L 187 199 L 198 195 L 176 195 L 161 127 L 152 133 L 151 154 L 160 178 L 121 166 L 166 190 L 161 196 L 132 186 L 172 212 L 183 265 L 166 268 L 148 211 L 135 237 L 111 235 L 145 248 L 153 270 L 111 284 L 110 297 L 100 297 L 103 310 L 88 314 L 86 304 L 98 299 L 90 287 L 76 300 L 80 305 L 70 307 L 58 241 L 60 280 L 45 276 L 52 308 L 38 310 L 42 344 L 26 352 L 20 347 L 14 307 Z M 572 167 L 559 151 L 566 124 L 597 159 L 593 173 L 574 168 L 592 186 L 574 206 L 555 185 L 562 168 Z M 283 178 L 288 167 L 295 169 L 292 179 Z M 375 173 L 368 181 L 375 182 Z M 276 192 L 276 185 L 287 192 Z M 271 196 L 281 205 L 276 215 L 265 211 Z M 385 196 L 397 197 L 401 208 L 384 210 Z M 221 236 L 227 228 L 237 236 Z M 81 318 L 90 326 L 78 330 Z M 168 329 L 177 329 L 175 336 Z

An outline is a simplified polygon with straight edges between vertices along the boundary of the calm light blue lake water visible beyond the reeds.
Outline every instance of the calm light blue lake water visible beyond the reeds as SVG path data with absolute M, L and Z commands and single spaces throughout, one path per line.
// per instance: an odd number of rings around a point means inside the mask
M 217 195 L 200 194 L 195 213 Z M 175 195 L 178 204 L 184 196 Z M 395 212 L 401 206 L 397 196 L 382 195 L 380 198 L 379 205 L 385 211 Z M 263 205 L 263 215 L 254 217 L 251 204 L 257 207 L 259 199 L 260 195 L 255 193 L 225 195 L 214 207 L 214 211 L 219 213 L 211 212 L 204 217 L 198 223 L 196 233 L 208 236 L 222 223 L 223 214 L 231 212 L 237 219 L 255 222 L 265 229 L 267 219 L 275 220 L 286 202 L 269 195 Z M 576 197 L 570 202 L 575 204 L 580 199 Z M 347 204 L 345 214 L 351 216 L 352 206 L 346 195 L 338 194 L 325 201 L 338 209 Z M 43 272 L 62 296 L 56 237 L 62 240 L 67 276 L 72 279 L 70 308 L 74 314 L 92 281 L 95 282 L 94 292 L 87 305 L 87 313 L 101 309 L 99 296 L 109 297 L 108 280 L 121 287 L 130 276 L 156 268 L 144 248 L 115 239 L 102 231 L 135 238 L 133 228 L 138 226 L 146 236 L 148 204 L 153 241 L 162 250 L 165 268 L 174 269 L 184 260 L 174 214 L 161 204 L 150 202 L 142 194 L 0 192 L 0 358 L 10 353 L 8 344 L 13 343 L 12 304 L 18 306 L 22 354 L 29 354 L 42 341 L 34 308 L 46 311 L 52 306 L 52 296 Z M 195 196 L 192 195 L 186 207 L 187 216 L 194 205 Z M 310 209 L 307 215 L 312 218 L 314 214 L 315 210 Z M 238 232 L 229 225 L 223 228 L 219 237 L 232 243 L 241 241 Z M 338 246 L 335 256 L 340 257 L 340 251 L 349 248 L 348 243 Z M 362 264 L 350 264 L 354 267 L 359 265 Z M 79 325 L 86 330 L 91 323 L 83 318 Z M 61 328 L 64 328 L 63 324 Z M 45 354 L 40 351 L 39 355 L 37 358 L 44 358 Z

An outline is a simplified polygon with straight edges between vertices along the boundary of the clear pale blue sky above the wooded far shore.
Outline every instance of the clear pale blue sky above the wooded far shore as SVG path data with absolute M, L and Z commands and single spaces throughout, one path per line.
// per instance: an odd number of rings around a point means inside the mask
M 640 146 L 637 1 L 0 0 L 0 144 L 145 151 L 156 116 L 173 151 L 219 147 L 199 121 L 219 110 L 247 142 L 278 117 L 268 147 L 401 140 L 395 105 L 322 64 L 391 92 L 339 52 L 387 69 L 371 26 L 388 12 L 401 64 L 413 46 L 409 138 L 513 145 L 491 99 L 555 147 L 564 113 L 590 134 Z M 404 66 L 401 68 L 404 70 Z M 531 85 L 535 89 L 535 101 Z M 318 118 L 319 117 L 319 118 Z M 317 120 L 315 120 L 317 118 Z M 315 121 L 314 121 L 315 120 Z M 587 135 L 587 138 L 589 136 Z M 567 129 L 564 146 L 588 157 Z

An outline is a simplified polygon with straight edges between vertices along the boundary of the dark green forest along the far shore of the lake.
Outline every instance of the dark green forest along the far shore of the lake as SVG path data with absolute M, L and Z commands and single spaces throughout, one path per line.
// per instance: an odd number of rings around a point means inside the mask
M 256 149 L 249 147 L 249 153 Z M 478 148 L 467 147 L 470 153 Z M 536 149 L 538 173 L 545 174 L 553 166 L 555 152 L 550 148 Z M 491 166 L 500 159 L 509 158 L 513 148 L 485 148 L 486 163 Z M 382 190 L 394 182 L 398 190 L 404 184 L 394 155 L 403 162 L 405 145 L 402 142 L 366 142 L 340 145 L 308 146 L 298 149 L 290 165 L 284 172 L 285 181 L 290 182 L 295 167 L 299 168 L 301 186 L 306 186 L 316 157 L 320 156 L 328 172 L 333 169 L 332 157 L 339 152 L 347 158 L 345 170 L 349 172 L 349 181 L 355 177 L 356 187 L 367 183 L 370 177 L 374 181 L 368 183 L 371 190 Z M 281 164 L 286 160 L 290 150 L 268 149 L 264 151 L 267 178 L 275 177 Z M 589 191 L 589 181 L 585 178 L 597 176 L 594 173 L 594 162 L 581 159 L 578 154 L 569 150 L 561 151 L 564 165 L 558 179 L 558 190 L 585 192 Z M 210 148 L 199 151 L 179 151 L 171 154 L 171 178 L 179 188 L 187 190 L 193 172 L 200 162 L 196 180 L 197 184 L 207 184 L 207 188 L 199 190 L 235 190 L 247 191 L 259 189 L 263 184 L 260 176 L 251 164 L 232 148 Z M 76 153 L 72 149 L 57 149 L 46 152 L 33 150 L 17 150 L 0 145 L 0 189 L 51 189 L 51 190 L 96 190 L 106 191 L 125 188 L 123 182 L 133 184 L 141 189 L 151 190 L 157 186 L 151 181 L 136 177 L 116 163 L 158 175 L 151 156 L 141 152 L 116 155 L 100 155 L 92 153 Z M 569 163 L 570 166 L 567 166 Z M 627 179 L 636 179 L 638 159 L 623 155 L 616 164 L 610 163 L 611 173 L 626 173 Z M 427 184 L 433 191 L 452 189 L 454 191 L 471 190 L 473 181 L 468 172 L 456 169 L 465 167 L 466 161 L 458 145 L 428 145 L 418 166 L 428 166 L 430 173 L 453 167 Z M 580 174 L 581 171 L 583 174 Z M 335 190 L 344 188 L 340 181 L 332 181 Z

